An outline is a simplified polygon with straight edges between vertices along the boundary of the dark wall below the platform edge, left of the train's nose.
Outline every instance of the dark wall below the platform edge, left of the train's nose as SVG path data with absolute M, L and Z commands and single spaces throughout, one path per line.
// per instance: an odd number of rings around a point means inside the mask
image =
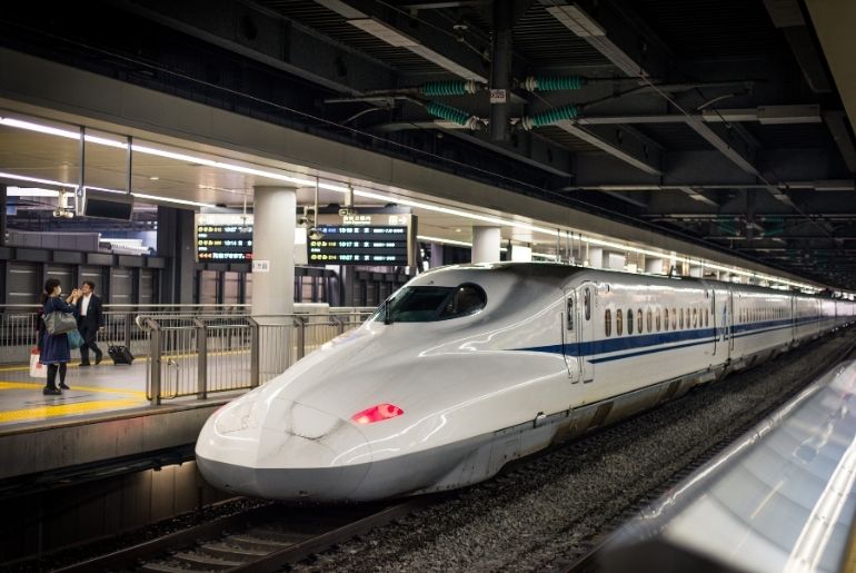
M 187 462 L 7 500 L 0 502 L 0 565 L 115 536 L 228 497 L 205 482 L 195 462 Z

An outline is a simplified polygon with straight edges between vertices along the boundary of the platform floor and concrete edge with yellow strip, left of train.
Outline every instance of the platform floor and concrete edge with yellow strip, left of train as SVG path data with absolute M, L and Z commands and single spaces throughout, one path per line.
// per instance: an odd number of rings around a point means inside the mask
M 146 396 L 148 360 L 68 365 L 61 396 L 46 396 L 43 378 L 29 366 L 0 367 L 0 492 L 4 485 L 73 475 L 74 468 L 146 457 L 178 448 L 192 452 L 213 411 L 242 391 L 165 401 Z M 59 476 L 59 477 L 58 477 Z

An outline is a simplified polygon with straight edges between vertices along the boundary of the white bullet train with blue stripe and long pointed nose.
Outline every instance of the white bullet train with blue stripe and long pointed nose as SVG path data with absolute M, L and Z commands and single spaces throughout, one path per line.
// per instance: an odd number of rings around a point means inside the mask
M 206 423 L 246 495 L 370 501 L 480 482 L 854 320 L 856 304 L 556 264 L 424 273 Z

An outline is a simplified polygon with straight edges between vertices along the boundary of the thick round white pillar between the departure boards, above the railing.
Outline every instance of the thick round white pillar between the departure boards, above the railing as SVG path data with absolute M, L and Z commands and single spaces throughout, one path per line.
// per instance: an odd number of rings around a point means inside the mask
M 291 187 L 253 189 L 253 315 L 287 315 L 295 308 L 296 209 Z

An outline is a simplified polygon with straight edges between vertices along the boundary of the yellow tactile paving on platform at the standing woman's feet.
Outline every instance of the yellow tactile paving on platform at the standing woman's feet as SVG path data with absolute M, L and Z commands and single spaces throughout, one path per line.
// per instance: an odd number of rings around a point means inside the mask
M 0 381 L 0 391 L 4 389 L 27 389 L 38 393 L 41 398 L 43 383 L 27 382 L 2 382 Z M 93 392 L 103 394 L 120 394 L 122 397 L 113 399 L 96 399 L 86 402 L 64 402 L 63 396 L 43 396 L 44 399 L 51 399 L 50 404 L 39 404 L 28 408 L 10 409 L 0 412 L 0 423 L 28 422 L 33 419 L 44 419 L 61 416 L 71 416 L 76 414 L 88 414 L 90 412 L 109 411 L 115 408 L 143 406 L 146 393 L 133 389 L 104 388 L 100 386 L 73 386 L 66 391 L 66 396 L 73 397 L 74 391 Z M 130 397 L 129 397 L 130 396 Z

